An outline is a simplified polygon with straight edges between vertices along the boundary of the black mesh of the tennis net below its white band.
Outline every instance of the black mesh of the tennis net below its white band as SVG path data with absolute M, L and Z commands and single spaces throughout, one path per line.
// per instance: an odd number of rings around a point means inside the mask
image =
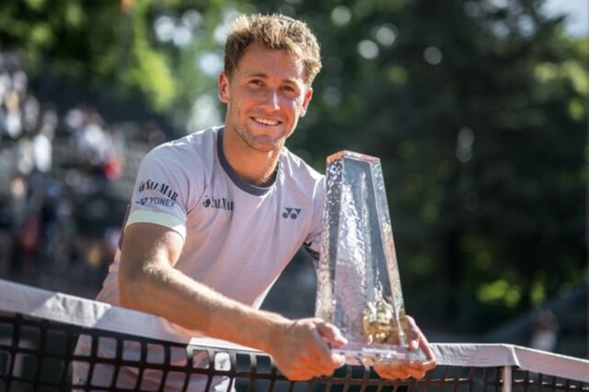
M 78 337 L 92 341 L 90 355 L 74 352 Z M 97 354 L 101 341 L 115 343 L 110 357 Z M 126 357 L 124 346 L 133 343 L 140 355 Z M 436 345 L 434 345 L 436 346 Z M 449 345 L 451 346 L 451 345 Z M 440 349 L 437 346 L 438 350 Z M 157 352 L 156 355 L 151 353 Z M 170 364 L 171 357 L 185 354 L 183 364 Z M 229 356 L 228 368 L 215 366 L 215 357 Z M 542 355 L 549 356 L 544 353 Z M 205 357 L 205 361 L 197 360 Z M 89 377 L 72 383 L 72 364 L 88 365 Z M 92 384 L 96 368 L 110 368 L 110 380 Z M 117 384 L 123 368 L 137 374 L 128 388 Z M 142 384 L 144 372 L 159 374 L 158 385 Z M 587 368 L 589 372 L 589 366 Z M 0 312 L 0 391 L 167 391 L 167 377 L 183 377 L 179 390 L 189 391 L 192 377 L 205 380 L 203 391 L 213 390 L 215 377 L 228 377 L 227 391 L 589 391 L 589 383 L 556 375 L 535 373 L 513 366 L 440 365 L 422 380 L 382 380 L 368 366 L 344 366 L 330 377 L 308 382 L 291 382 L 276 369 L 263 352 L 185 345 L 96 328 L 81 327 L 13 312 Z

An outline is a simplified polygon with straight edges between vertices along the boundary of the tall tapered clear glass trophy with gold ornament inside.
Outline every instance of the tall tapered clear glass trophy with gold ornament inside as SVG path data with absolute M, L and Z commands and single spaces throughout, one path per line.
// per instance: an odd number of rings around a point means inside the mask
M 395 243 L 379 158 L 340 151 L 327 157 L 323 237 L 315 316 L 349 343 L 332 348 L 347 364 L 426 360 L 408 350 Z

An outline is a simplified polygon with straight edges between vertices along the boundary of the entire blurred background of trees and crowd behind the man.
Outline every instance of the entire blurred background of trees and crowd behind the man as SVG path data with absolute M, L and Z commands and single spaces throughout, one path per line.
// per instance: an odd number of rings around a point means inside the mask
M 141 157 L 222 123 L 227 26 L 274 11 L 324 63 L 288 147 L 380 157 L 430 340 L 589 357 L 589 0 L 3 0 L 0 276 L 94 296 Z M 312 314 L 313 279 L 299 255 L 265 307 Z

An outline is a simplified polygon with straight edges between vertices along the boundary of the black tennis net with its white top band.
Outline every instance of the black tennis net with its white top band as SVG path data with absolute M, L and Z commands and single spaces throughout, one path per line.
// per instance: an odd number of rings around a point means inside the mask
M 433 343 L 438 366 L 422 380 L 381 380 L 367 366 L 344 366 L 290 382 L 263 352 L 183 341 L 155 328 L 156 319 L 0 280 L 0 392 L 589 391 L 589 361 L 503 344 Z M 76 350 L 80 341 L 86 352 Z

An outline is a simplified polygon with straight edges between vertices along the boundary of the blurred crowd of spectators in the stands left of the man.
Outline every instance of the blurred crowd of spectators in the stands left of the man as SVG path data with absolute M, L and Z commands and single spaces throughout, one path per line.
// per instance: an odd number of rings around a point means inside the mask
M 40 102 L 17 53 L 0 48 L 0 278 L 93 291 L 138 164 L 166 136 L 156 122 L 108 123 L 83 103 L 64 112 Z

